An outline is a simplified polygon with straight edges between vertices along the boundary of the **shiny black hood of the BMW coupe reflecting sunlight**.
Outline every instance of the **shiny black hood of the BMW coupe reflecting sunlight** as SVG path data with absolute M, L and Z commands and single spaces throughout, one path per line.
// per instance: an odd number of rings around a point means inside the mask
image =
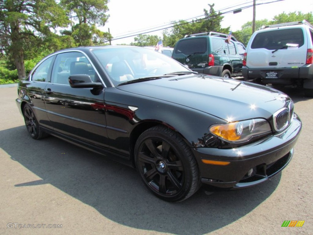
M 271 118 L 290 98 L 275 89 L 201 74 L 117 86 L 118 89 L 183 105 L 227 121 Z

